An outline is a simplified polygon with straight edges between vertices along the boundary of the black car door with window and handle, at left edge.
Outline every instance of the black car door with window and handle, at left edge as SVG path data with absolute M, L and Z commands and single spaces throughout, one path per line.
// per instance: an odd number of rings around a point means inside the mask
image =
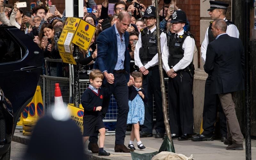
M 14 124 L 35 94 L 43 57 L 37 44 L 18 28 L 0 27 L 0 87 L 12 103 Z

